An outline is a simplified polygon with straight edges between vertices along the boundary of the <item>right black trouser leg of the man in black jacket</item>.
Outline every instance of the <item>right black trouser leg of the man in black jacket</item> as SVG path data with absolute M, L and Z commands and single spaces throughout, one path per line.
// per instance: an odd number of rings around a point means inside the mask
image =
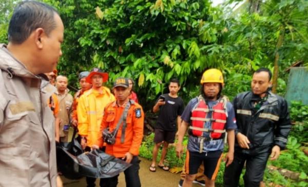
M 265 152 L 247 157 L 246 172 L 244 175 L 244 183 L 246 187 L 259 187 L 260 182 L 263 180 L 269 154 L 269 152 Z

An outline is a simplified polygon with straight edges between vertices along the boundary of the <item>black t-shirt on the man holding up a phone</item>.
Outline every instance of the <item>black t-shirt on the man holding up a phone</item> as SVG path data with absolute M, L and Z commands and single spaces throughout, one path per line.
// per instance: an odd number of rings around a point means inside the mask
M 185 108 L 184 102 L 181 97 L 172 98 L 169 94 L 163 94 L 163 96 L 166 98 L 166 103 L 160 106 L 156 128 L 176 131 L 178 128 L 177 118 L 182 115 Z

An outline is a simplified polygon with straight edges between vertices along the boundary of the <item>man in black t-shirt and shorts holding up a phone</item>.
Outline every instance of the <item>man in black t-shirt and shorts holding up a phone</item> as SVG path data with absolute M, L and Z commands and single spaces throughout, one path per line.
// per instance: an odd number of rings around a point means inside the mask
M 157 124 L 155 127 L 154 148 L 152 163 L 149 167 L 150 172 L 156 172 L 156 159 L 159 147 L 163 144 L 163 151 L 158 166 L 168 171 L 169 167 L 165 166 L 163 161 L 167 154 L 168 144 L 175 142 L 177 129 L 181 124 L 181 115 L 184 111 L 184 102 L 178 97 L 180 82 L 177 79 L 171 79 L 169 83 L 169 94 L 163 94 L 157 100 L 153 107 L 153 112 L 159 111 Z

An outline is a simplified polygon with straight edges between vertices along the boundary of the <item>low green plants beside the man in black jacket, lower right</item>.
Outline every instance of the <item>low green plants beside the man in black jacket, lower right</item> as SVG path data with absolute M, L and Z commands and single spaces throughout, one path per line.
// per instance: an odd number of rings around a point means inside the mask
M 308 157 L 303 152 L 303 145 L 308 142 L 308 106 L 303 105 L 301 102 L 292 101 L 290 107 L 290 117 L 294 121 L 286 150 L 281 151 L 278 160 L 269 161 L 268 164 L 276 167 L 300 173 L 300 180 L 293 181 L 284 178 L 278 171 L 267 172 L 265 171 L 264 180 L 266 183 L 274 182 L 283 186 L 307 186 L 307 168 Z

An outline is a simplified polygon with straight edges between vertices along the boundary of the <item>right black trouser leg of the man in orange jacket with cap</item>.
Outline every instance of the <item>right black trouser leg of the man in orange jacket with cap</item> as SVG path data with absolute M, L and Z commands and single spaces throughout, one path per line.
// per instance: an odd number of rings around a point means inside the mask
M 139 163 L 140 160 L 138 156 L 133 156 L 131 162 L 132 165 L 124 171 L 126 187 L 140 187 L 140 178 L 139 178 Z

